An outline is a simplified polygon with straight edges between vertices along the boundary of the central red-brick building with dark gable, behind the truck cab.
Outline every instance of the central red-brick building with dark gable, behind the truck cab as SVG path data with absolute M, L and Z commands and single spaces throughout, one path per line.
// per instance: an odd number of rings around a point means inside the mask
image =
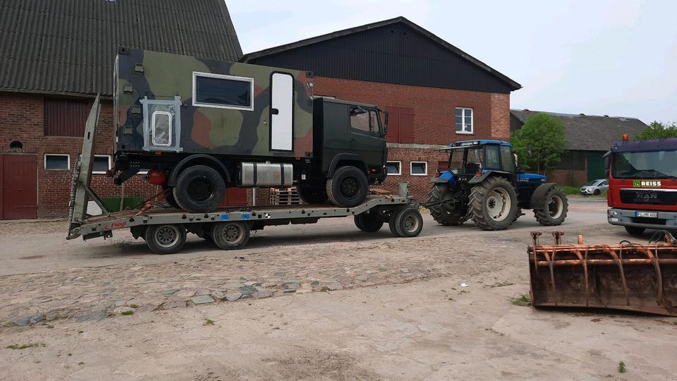
M 245 54 L 243 62 L 309 70 L 316 96 L 389 111 L 389 176 L 425 200 L 452 141 L 510 138 L 510 93 L 520 85 L 399 17 Z

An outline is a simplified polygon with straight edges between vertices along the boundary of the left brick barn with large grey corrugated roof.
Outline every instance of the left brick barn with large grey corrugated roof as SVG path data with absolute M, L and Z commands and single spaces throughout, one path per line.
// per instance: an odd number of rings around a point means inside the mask
M 222 0 L 4 1 L 0 14 L 0 219 L 66 215 L 70 169 L 97 93 L 103 101 L 94 191 L 157 193 L 143 175 L 122 188 L 103 174 L 114 149 L 118 46 L 224 61 L 242 56 Z

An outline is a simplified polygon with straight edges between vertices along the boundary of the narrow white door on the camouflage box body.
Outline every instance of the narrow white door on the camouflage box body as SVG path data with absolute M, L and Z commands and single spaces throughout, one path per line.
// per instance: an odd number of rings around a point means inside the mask
M 293 141 L 294 78 L 273 73 L 270 102 L 270 148 L 291 151 Z

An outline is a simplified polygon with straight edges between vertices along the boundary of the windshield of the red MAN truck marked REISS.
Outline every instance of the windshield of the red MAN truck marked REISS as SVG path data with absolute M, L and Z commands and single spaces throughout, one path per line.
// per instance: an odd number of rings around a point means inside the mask
M 677 150 L 618 152 L 613 157 L 611 176 L 616 179 L 677 178 Z

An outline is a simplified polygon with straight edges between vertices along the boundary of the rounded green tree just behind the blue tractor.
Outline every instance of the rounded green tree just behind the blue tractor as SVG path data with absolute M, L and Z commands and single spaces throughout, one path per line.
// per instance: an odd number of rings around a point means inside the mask
M 524 126 L 512 134 L 511 143 L 520 167 L 554 169 L 566 150 L 566 125 L 556 116 L 532 114 Z

